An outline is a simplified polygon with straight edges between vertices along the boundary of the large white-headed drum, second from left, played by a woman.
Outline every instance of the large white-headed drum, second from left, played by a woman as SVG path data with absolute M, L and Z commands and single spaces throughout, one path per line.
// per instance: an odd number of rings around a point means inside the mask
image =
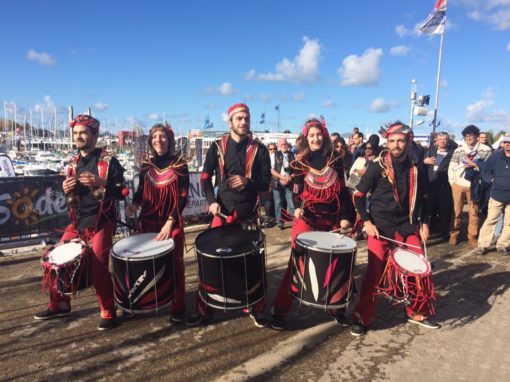
M 112 247 L 115 302 L 126 312 L 157 312 L 175 298 L 175 244 L 156 235 L 133 235 Z

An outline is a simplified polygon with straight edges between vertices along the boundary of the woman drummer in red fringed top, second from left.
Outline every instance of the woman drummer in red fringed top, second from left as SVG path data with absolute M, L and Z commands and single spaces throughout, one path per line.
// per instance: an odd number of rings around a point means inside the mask
M 169 124 L 157 123 L 152 126 L 148 144 L 151 154 L 142 165 L 140 183 L 133 203 L 126 208 L 126 216 L 132 216 L 141 208 L 136 222 L 138 232 L 157 232 L 156 240 L 174 240 L 173 261 L 177 285 L 170 321 L 179 324 L 184 322 L 186 310 L 184 225 L 181 214 L 188 199 L 188 165 L 182 155 L 175 153 L 174 132 Z

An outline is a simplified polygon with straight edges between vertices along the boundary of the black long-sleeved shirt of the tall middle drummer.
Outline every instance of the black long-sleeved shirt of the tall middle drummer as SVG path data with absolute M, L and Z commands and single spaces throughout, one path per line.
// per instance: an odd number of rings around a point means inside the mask
M 218 202 L 223 213 L 227 215 L 231 215 L 234 210 L 237 211 L 240 220 L 252 218 L 255 216 L 258 193 L 269 189 L 269 182 L 271 180 L 269 151 L 263 144 L 255 142 L 257 153 L 253 162 L 251 179 L 248 179 L 248 184 L 243 190 L 238 191 L 230 189 L 227 180 L 232 175 L 246 176 L 248 139 L 243 139 L 237 143 L 231 137 L 228 138 L 224 157 L 223 178 L 221 178 L 218 160 L 218 144 L 221 144 L 221 141 L 211 145 L 207 151 L 202 170 L 201 183 L 207 202 L 209 204 Z M 213 175 L 216 176 L 216 184 L 219 187 L 217 199 L 214 196 L 211 180 Z

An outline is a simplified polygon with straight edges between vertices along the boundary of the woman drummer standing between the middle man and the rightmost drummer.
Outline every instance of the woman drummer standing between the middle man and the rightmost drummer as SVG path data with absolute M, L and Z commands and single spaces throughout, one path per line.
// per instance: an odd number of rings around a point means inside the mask
M 303 232 L 349 228 L 349 220 L 354 215 L 345 187 L 342 158 L 333 150 L 324 118 L 306 121 L 298 141 L 297 158 L 291 163 L 294 205 L 300 206 L 294 211 L 292 247 L 296 237 Z M 291 271 L 292 254 L 273 300 L 271 327 L 275 330 L 285 328 L 285 317 L 292 307 Z M 348 326 L 344 311 L 330 310 L 328 313 L 340 326 Z

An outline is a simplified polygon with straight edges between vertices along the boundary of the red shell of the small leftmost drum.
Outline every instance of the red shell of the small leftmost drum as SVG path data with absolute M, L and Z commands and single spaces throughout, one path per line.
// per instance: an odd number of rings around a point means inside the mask
M 82 252 L 72 261 L 65 264 L 51 264 L 49 256 L 51 251 L 67 242 L 58 243 L 43 255 L 41 260 L 45 272 L 50 272 L 49 280 L 58 293 L 65 296 L 74 296 L 90 287 L 90 248 L 83 243 Z

